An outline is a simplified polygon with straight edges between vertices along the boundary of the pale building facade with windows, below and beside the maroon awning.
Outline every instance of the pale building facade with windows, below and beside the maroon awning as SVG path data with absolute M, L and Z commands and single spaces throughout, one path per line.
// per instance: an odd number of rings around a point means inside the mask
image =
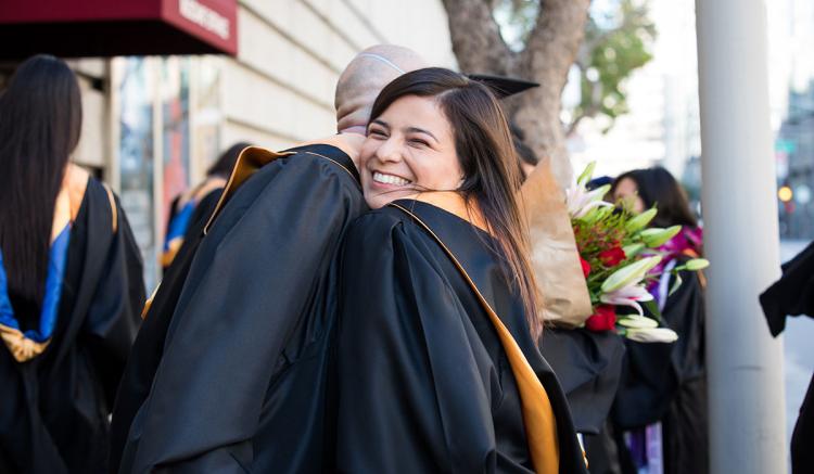
M 402 44 L 456 66 L 436 0 L 239 0 L 237 31 L 234 56 L 69 60 L 85 112 L 74 159 L 119 193 L 148 287 L 171 200 L 234 142 L 280 150 L 334 133 L 334 86 L 358 51 Z M 15 65 L 0 64 L 0 81 Z

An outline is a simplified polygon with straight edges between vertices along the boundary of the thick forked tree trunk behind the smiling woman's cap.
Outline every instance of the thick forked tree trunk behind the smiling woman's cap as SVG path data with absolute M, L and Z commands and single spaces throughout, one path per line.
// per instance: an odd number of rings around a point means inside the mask
M 506 104 L 510 119 L 525 133 L 540 161 L 550 159 L 557 182 L 573 176 L 560 120 L 560 95 L 585 34 L 590 0 L 540 0 L 540 13 L 521 53 L 500 37 L 486 0 L 442 0 L 449 20 L 453 51 L 465 73 L 485 73 L 534 80 L 532 89 Z

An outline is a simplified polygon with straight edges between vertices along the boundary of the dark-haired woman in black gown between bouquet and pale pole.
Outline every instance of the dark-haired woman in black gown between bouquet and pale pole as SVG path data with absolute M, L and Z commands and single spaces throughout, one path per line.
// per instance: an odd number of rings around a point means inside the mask
M 679 272 L 683 283 L 670 294 L 674 283 L 670 270 L 701 255 L 701 229 L 684 190 L 664 168 L 621 175 L 610 193 L 635 213 L 656 206 L 653 227 L 682 226 L 658 248 L 663 256 L 659 270 L 664 273 L 648 287 L 678 341 L 625 341 L 627 357 L 612 417 L 620 463 L 629 473 L 661 464 L 666 474 L 703 474 L 709 469 L 703 276 Z

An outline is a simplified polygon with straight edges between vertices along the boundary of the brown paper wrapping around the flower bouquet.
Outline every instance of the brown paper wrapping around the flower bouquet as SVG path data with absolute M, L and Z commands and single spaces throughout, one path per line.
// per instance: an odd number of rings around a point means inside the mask
M 520 190 L 520 202 L 529 219 L 532 267 L 542 296 L 539 315 L 546 324 L 575 328 L 593 312 L 590 296 L 565 196 L 549 163 L 540 161 L 529 175 Z

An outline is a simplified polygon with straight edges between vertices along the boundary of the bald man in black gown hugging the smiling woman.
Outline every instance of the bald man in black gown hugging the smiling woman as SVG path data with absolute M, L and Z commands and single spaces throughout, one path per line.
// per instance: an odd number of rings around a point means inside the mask
M 246 149 L 145 315 L 113 413 L 111 472 L 330 470 L 334 254 L 366 210 L 356 159 L 379 91 L 423 67 L 369 48 L 336 86 L 340 134 Z

